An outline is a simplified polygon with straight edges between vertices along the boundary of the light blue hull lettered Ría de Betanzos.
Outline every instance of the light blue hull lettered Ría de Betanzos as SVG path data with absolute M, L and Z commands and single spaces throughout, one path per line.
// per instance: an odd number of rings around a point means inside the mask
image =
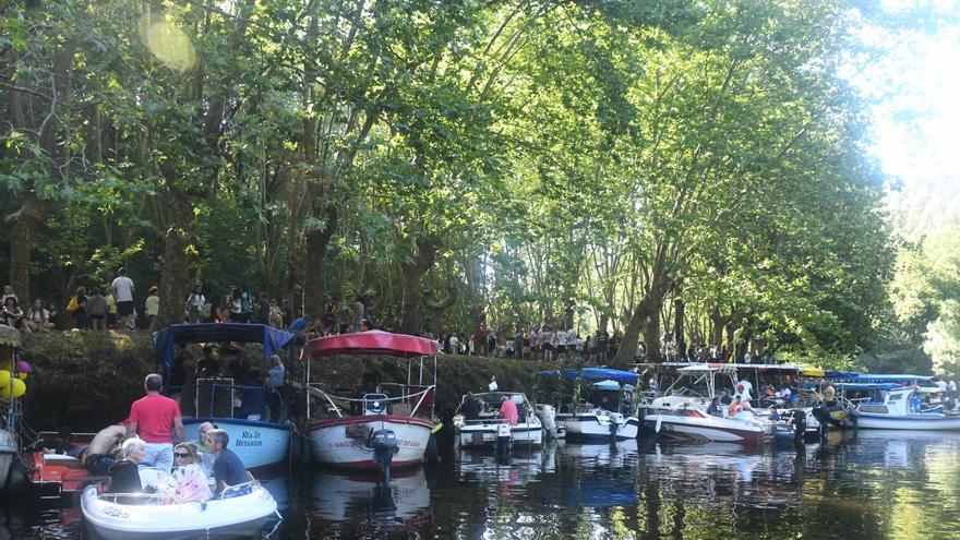
M 230 435 L 229 448 L 248 469 L 287 460 L 293 433 L 290 425 L 239 418 L 184 418 L 183 432 L 188 440 L 197 440 L 197 430 L 203 422 L 213 422 Z

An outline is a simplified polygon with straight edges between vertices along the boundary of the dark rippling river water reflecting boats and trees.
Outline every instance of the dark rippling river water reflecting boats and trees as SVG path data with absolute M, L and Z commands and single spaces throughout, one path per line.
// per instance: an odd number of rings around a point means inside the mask
M 960 433 L 862 430 L 747 453 L 734 445 L 550 444 L 509 464 L 459 452 L 375 478 L 320 469 L 263 476 L 284 520 L 264 536 L 456 539 L 956 539 Z M 38 525 L 5 509 L 4 538 L 83 537 L 79 513 Z M 49 518 L 49 516 L 48 516 Z

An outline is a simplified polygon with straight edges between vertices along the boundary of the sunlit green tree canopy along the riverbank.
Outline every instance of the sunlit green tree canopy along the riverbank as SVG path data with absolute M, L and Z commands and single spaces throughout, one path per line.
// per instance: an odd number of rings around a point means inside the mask
M 619 363 L 664 336 L 847 358 L 883 331 L 895 261 L 865 108 L 837 76 L 860 16 L 14 1 L 10 283 L 63 305 L 123 265 L 141 297 L 159 286 L 164 323 L 192 284 L 242 285 L 311 316 L 362 297 L 408 333 L 604 328 Z M 956 307 L 919 302 L 898 313 L 952 332 Z

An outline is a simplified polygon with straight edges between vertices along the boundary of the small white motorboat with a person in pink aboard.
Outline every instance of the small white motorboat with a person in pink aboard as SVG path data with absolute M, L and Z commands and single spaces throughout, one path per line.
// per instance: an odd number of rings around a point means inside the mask
M 506 424 L 500 417 L 500 405 L 506 397 L 517 407 L 518 421 L 515 424 Z M 493 446 L 499 434 L 508 434 L 514 445 L 540 446 L 543 444 L 543 425 L 537 418 L 536 410 L 530 405 L 527 396 L 516 392 L 484 392 L 473 394 L 473 399 L 480 401 L 480 417 L 467 419 L 463 415 L 464 404 L 467 396 L 460 399 L 460 407 L 454 416 L 454 427 L 457 431 L 457 443 L 461 448 L 477 446 Z

